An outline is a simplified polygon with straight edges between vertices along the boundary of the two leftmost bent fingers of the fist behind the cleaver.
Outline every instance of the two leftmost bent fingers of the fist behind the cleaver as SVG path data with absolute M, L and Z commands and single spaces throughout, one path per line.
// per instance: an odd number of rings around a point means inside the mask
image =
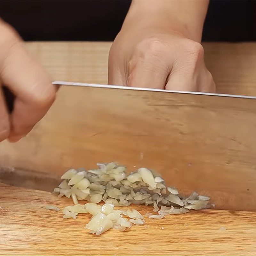
M 109 52 L 108 84 L 164 89 L 171 69 L 168 55 L 168 47 L 157 38 L 140 42 L 128 58 L 114 42 Z

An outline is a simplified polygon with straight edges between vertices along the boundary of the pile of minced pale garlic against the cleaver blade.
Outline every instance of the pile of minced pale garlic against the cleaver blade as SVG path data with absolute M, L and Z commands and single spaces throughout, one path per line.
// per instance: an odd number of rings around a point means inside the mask
M 145 220 L 136 210 L 114 210 L 114 206 L 130 204 L 153 205 L 154 212 L 149 218 L 162 219 L 169 214 L 181 214 L 190 209 L 199 210 L 210 207 L 210 197 L 193 192 L 183 197 L 174 187 L 166 187 L 162 177 L 147 168 L 126 173 L 126 167 L 116 163 L 97 164 L 98 169 L 70 169 L 65 172 L 58 188 L 53 192 L 59 197 L 72 198 L 74 205 L 63 209 L 63 218 L 76 219 L 79 213 L 90 213 L 91 220 L 85 226 L 90 233 L 100 235 L 109 228 L 125 230 L 132 224 L 142 225 Z M 90 203 L 79 204 L 79 200 Z M 104 201 L 103 206 L 99 205 Z M 159 207 L 161 209 L 159 210 Z M 58 207 L 47 205 L 46 209 L 57 210 Z M 127 218 L 126 218 L 127 217 Z

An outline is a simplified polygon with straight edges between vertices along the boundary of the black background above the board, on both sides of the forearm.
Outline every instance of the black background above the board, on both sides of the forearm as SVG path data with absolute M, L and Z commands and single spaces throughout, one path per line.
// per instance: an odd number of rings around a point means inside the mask
M 129 0 L 0 1 L 0 17 L 26 41 L 113 41 Z M 212 0 L 203 41 L 255 41 L 256 2 Z

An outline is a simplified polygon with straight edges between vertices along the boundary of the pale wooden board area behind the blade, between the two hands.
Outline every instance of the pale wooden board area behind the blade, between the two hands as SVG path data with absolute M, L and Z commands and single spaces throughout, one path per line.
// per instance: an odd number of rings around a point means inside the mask
M 26 47 L 53 80 L 108 82 L 110 42 L 29 42 Z

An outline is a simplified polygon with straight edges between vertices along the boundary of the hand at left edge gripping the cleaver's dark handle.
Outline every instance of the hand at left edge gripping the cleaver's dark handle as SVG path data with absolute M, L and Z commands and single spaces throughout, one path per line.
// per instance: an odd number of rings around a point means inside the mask
M 15 142 L 46 114 L 55 99 L 56 87 L 44 69 L 28 56 L 13 28 L 3 21 L 0 34 L 0 85 L 7 86 L 16 97 L 9 114 L 0 91 L 0 141 L 8 138 Z

